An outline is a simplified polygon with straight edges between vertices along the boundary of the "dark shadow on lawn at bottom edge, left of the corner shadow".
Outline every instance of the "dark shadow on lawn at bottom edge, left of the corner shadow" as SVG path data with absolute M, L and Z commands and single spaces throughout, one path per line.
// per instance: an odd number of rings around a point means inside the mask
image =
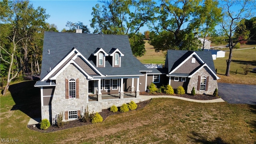
M 189 136 L 189 138 L 194 140 L 194 142 L 196 142 L 196 143 L 200 142 L 202 144 L 228 144 L 228 143 L 224 142 L 222 140 L 222 138 L 220 138 L 220 137 L 217 137 L 214 140 L 209 141 L 209 140 L 207 140 L 207 138 L 205 138 L 204 136 L 201 136 L 197 132 L 192 131 L 191 133 L 192 133 L 193 137 Z

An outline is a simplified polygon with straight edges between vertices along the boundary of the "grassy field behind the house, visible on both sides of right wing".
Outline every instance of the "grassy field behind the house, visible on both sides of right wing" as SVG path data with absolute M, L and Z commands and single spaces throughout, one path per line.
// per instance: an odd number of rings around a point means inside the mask
M 248 45 L 247 45 L 248 46 Z M 251 45 L 249 45 L 250 47 Z M 244 46 L 246 47 L 246 46 Z M 165 63 L 165 54 L 162 52 L 155 52 L 154 48 L 145 43 L 146 54 L 138 57 L 143 64 L 163 64 Z M 217 75 L 220 77 L 218 82 L 228 82 L 234 84 L 256 84 L 256 73 L 249 72 L 248 75 L 244 74 L 241 66 L 250 64 L 250 68 L 256 67 L 256 48 L 246 50 L 233 50 L 232 63 L 230 67 L 230 76 L 224 76 L 226 73 L 226 60 L 228 59 L 229 52 L 226 52 L 225 58 L 217 58 L 214 60 L 215 68 L 217 68 Z M 236 74 L 237 70 L 237 74 Z

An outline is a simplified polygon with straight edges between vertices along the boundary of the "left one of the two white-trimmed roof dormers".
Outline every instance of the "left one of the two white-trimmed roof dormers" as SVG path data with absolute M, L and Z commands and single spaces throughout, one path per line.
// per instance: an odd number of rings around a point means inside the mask
M 96 56 L 96 67 L 105 67 L 108 54 L 102 48 L 97 48 L 92 54 Z

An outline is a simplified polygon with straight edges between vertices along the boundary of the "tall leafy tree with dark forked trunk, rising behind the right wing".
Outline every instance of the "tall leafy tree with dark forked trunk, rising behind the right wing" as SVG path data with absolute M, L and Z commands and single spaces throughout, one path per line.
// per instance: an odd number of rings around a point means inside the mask
M 154 46 L 156 51 L 168 49 L 197 50 L 200 41 L 193 34 L 198 25 L 194 22 L 192 16 L 196 14 L 199 9 L 199 1 L 178 0 L 168 1 L 162 0 L 160 5 L 160 15 L 154 22 L 158 21 L 159 24 L 154 25 L 158 36 L 154 40 L 150 40 L 150 44 Z M 195 19 L 196 17 L 194 17 Z M 184 28 L 184 25 L 188 25 Z M 160 44 L 159 42 L 164 42 Z M 158 45 L 160 44 L 160 45 Z M 164 47 L 162 47 L 164 45 Z

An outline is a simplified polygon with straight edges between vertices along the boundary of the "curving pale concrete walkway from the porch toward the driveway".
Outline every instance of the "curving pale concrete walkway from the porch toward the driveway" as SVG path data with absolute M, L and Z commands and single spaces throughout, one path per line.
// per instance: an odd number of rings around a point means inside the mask
M 214 99 L 214 100 L 193 100 L 193 99 L 189 99 L 189 98 L 182 98 L 180 96 L 142 96 L 142 95 L 140 95 L 140 98 L 142 101 L 149 100 L 151 98 L 176 98 L 176 99 L 180 99 L 180 100 L 186 100 L 186 101 L 190 101 L 190 102 L 200 102 L 200 103 L 225 102 L 224 100 L 222 100 L 222 98 L 218 98 L 218 99 Z

